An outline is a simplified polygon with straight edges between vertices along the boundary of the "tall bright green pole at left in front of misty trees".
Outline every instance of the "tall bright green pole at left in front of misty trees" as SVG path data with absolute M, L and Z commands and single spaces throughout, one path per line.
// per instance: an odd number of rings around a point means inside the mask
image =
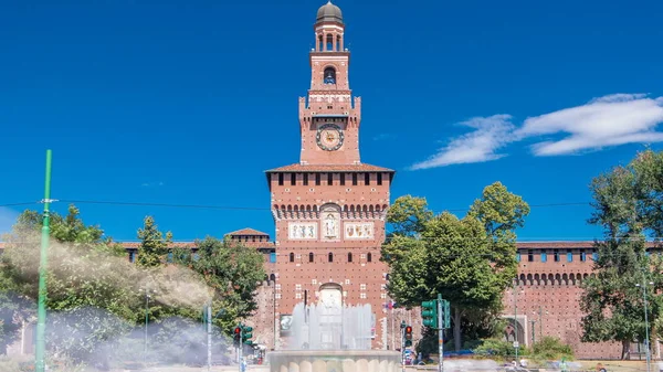
M 44 214 L 42 223 L 42 236 L 41 236 L 41 257 L 39 265 L 39 306 L 36 312 L 36 350 L 34 352 L 35 371 L 44 372 L 45 370 L 45 350 L 46 350 L 46 267 L 49 263 L 49 238 L 51 235 L 51 212 L 49 210 L 51 200 L 51 150 L 46 150 L 46 179 L 44 184 Z

